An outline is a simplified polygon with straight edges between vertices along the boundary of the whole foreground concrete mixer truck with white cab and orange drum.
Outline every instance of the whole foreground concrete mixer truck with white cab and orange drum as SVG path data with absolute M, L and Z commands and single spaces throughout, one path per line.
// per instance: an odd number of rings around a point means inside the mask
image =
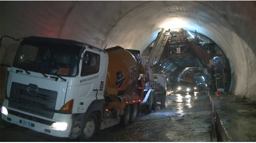
M 143 66 L 135 50 L 27 37 L 8 71 L 2 119 L 18 126 L 87 140 L 138 116 Z

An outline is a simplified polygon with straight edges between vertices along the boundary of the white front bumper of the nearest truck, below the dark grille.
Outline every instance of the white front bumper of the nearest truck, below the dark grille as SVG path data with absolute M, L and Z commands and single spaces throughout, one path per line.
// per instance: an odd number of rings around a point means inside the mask
M 6 107 L 6 106 L 4 106 Z M 49 134 L 52 136 L 57 136 L 57 137 L 69 137 L 70 131 L 71 131 L 71 125 L 72 121 L 57 121 L 57 120 L 51 120 L 51 119 L 42 119 L 33 116 L 30 113 L 19 111 L 16 109 L 8 108 L 8 114 L 5 115 L 3 112 L 1 112 L 1 117 L 3 120 L 16 124 L 21 127 L 25 127 L 37 132 Z M 67 116 L 67 118 L 62 118 L 62 119 L 69 119 L 70 115 L 62 115 L 62 116 Z M 31 126 L 27 126 L 23 124 L 23 121 L 30 122 Z M 51 125 L 53 123 L 67 123 L 67 129 L 64 131 L 60 130 L 55 130 L 51 128 Z

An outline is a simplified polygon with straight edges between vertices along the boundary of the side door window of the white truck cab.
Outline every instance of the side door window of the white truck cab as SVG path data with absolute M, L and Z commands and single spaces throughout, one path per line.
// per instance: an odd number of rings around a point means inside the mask
M 92 75 L 99 72 L 100 55 L 90 51 L 86 51 L 84 55 L 90 55 L 89 63 L 82 62 L 81 76 Z

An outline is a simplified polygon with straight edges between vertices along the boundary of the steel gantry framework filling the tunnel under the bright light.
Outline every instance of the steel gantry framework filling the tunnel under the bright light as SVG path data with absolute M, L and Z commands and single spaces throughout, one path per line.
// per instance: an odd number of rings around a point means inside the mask
M 231 90 L 231 71 L 229 60 L 222 49 L 208 37 L 183 28 L 169 30 L 159 62 L 153 67 L 155 74 L 164 74 L 168 90 L 177 90 L 180 80 L 194 77 L 195 86 L 210 87 L 211 92 L 218 89 L 222 93 Z M 159 37 L 158 33 L 157 38 Z M 149 56 L 156 40 L 143 51 Z

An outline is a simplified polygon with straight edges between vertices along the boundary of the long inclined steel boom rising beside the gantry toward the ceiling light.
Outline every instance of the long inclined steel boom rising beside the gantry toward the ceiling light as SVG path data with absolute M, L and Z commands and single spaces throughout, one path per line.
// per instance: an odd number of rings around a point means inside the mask
M 161 57 L 164 46 L 169 39 L 169 31 L 166 31 L 165 28 L 162 28 L 162 31 L 157 36 L 156 42 L 152 48 L 150 56 L 148 57 L 148 65 L 154 66 L 156 65 Z

